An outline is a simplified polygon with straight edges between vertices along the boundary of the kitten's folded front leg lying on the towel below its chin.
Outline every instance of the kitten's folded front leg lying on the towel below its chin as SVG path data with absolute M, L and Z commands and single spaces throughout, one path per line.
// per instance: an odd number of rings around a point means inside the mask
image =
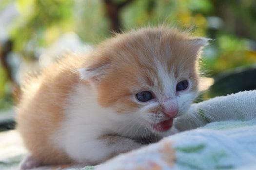
M 142 147 L 142 144 L 134 140 L 113 134 L 103 135 L 96 140 L 77 145 L 77 150 L 71 153 L 71 157 L 80 163 L 96 165 L 102 163 L 120 153 Z

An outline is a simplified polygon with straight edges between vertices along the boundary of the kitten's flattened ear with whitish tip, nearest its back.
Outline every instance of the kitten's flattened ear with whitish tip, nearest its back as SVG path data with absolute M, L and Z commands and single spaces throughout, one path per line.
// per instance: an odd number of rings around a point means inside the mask
M 78 70 L 80 73 L 80 79 L 96 83 L 101 80 L 109 67 L 109 63 L 101 63 L 93 67 L 80 68 Z

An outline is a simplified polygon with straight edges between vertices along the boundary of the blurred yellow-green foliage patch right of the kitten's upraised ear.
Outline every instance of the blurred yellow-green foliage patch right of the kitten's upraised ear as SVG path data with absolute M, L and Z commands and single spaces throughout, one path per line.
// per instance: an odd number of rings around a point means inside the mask
M 219 35 L 216 41 L 206 49 L 206 58 L 203 59 L 207 69 L 211 70 L 209 75 L 255 63 L 256 52 L 247 49 L 248 42 L 245 39 L 228 34 Z

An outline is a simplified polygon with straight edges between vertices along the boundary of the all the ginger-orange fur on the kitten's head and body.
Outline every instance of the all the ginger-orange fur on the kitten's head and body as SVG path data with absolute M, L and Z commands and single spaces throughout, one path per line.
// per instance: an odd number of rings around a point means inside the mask
M 70 55 L 53 63 L 50 67 L 45 68 L 41 75 L 32 78 L 29 83 L 24 85 L 16 120 L 17 129 L 20 131 L 26 147 L 32 156 L 39 160 L 40 164 L 82 162 L 70 156 L 63 147 L 57 146 L 56 141 L 53 141 L 54 138 L 58 139 L 59 137 L 56 134 L 66 133 L 62 130 L 65 126 L 63 122 L 68 122 L 66 107 L 75 99 L 70 96 L 75 94 L 77 86 L 83 86 L 92 92 L 92 100 L 95 97 L 99 110 L 104 108 L 113 110 L 114 116 L 111 118 L 113 124 L 115 124 L 115 117 L 121 119 L 122 114 L 135 114 L 145 107 L 145 103 L 141 104 L 133 99 L 138 90 L 157 89 L 157 104 L 155 103 L 146 111 L 148 113 L 164 112 L 165 105 L 161 101 L 167 100 L 166 89 L 172 85 L 172 82 L 170 85 L 162 85 L 165 80 L 162 80 L 159 75 L 157 68 L 159 66 L 166 66 L 164 70 L 173 75 L 174 79 L 189 79 L 191 87 L 188 92 L 193 92 L 191 98 L 194 99 L 199 78 L 197 56 L 205 44 L 205 39 L 192 38 L 175 29 L 143 28 L 127 34 L 118 34 L 115 38 L 106 40 L 86 56 Z M 82 68 L 86 68 L 89 77 L 81 78 L 78 70 Z M 178 93 L 177 98 L 183 93 Z M 188 105 L 193 99 L 189 100 Z M 187 108 L 182 110 L 180 107 L 179 110 L 182 111 L 180 114 L 186 112 Z M 95 114 L 99 114 L 97 112 L 95 111 Z M 72 113 L 68 114 L 71 115 L 70 118 L 74 117 Z M 82 114 L 86 115 L 87 113 Z M 109 121 L 108 116 L 105 121 Z M 150 131 L 156 133 L 152 129 Z M 106 134 L 108 133 L 116 134 L 117 132 L 109 130 Z M 134 132 L 131 133 L 134 134 Z M 106 134 L 103 133 L 101 136 Z M 131 137 L 126 134 L 117 134 Z M 78 135 L 82 136 L 83 134 Z M 139 138 L 141 135 L 138 134 L 135 137 Z M 165 135 L 158 134 L 160 137 Z M 99 138 L 100 135 L 97 139 Z M 64 141 L 60 140 L 59 142 Z M 129 139 L 129 142 L 132 141 Z M 114 153 L 118 154 L 130 149 L 132 148 L 110 152 L 103 158 L 88 162 L 100 163 Z M 86 151 L 84 152 L 86 153 Z M 87 160 L 86 157 L 84 159 Z

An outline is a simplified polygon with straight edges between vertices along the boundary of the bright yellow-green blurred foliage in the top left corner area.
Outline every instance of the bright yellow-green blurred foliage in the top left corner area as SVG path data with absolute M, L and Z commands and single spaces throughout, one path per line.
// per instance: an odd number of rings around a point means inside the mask
M 46 46 L 72 29 L 73 3 L 72 0 L 18 0 L 21 15 L 12 30 L 15 51 L 34 57 L 34 48 Z M 27 48 L 28 44 L 33 45 Z

